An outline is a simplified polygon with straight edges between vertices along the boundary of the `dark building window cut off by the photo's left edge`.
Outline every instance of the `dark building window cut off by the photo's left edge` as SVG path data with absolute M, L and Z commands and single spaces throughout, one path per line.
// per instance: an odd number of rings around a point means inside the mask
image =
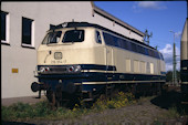
M 8 18 L 8 12 L 1 11 L 1 42 L 2 43 L 9 43 L 9 18 Z

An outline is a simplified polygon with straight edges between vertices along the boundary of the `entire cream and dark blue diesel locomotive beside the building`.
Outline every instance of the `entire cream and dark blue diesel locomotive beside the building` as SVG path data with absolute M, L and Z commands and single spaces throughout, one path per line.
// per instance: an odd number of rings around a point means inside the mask
M 46 91 L 54 104 L 92 101 L 113 90 L 157 93 L 166 81 L 164 58 L 156 49 L 87 22 L 51 28 L 38 49 L 36 72 L 32 91 Z

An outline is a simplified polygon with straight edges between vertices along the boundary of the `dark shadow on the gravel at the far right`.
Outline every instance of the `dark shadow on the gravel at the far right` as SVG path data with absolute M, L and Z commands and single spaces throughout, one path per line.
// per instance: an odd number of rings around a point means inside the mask
M 165 91 L 161 95 L 153 98 L 150 102 L 154 105 L 157 105 L 166 110 L 176 107 L 179 114 L 188 115 L 188 104 L 181 103 L 182 102 L 181 93 L 175 90 Z

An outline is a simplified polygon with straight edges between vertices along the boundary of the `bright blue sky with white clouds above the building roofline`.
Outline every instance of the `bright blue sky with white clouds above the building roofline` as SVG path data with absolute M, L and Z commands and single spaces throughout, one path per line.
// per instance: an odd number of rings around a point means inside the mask
M 166 61 L 166 71 L 173 70 L 173 42 L 180 55 L 180 38 L 187 18 L 186 1 L 95 1 L 96 7 L 145 32 L 153 32 L 150 45 L 158 46 Z M 180 56 L 177 56 L 179 70 Z

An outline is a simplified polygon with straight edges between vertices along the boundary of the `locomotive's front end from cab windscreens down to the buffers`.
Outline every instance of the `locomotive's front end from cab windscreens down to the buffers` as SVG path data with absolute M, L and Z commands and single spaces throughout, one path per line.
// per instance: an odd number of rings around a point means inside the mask
M 46 91 L 50 102 L 53 96 L 59 96 L 59 102 L 62 102 L 62 98 L 74 98 L 75 93 L 82 93 L 84 90 L 87 90 L 85 92 L 88 94 L 88 90 L 92 88 L 82 87 L 83 79 L 88 77 L 84 72 L 90 72 L 91 67 L 104 63 L 102 41 L 101 31 L 94 28 L 49 30 L 38 49 L 35 76 L 39 83 L 34 82 L 31 85 L 32 91 Z

